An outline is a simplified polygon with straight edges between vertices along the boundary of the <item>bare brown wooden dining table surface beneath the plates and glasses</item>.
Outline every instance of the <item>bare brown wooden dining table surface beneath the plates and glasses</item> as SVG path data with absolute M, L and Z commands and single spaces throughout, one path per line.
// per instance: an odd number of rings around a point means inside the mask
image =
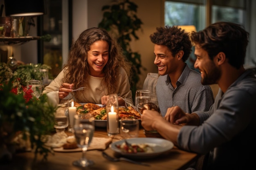
M 94 137 L 108 138 L 106 128 L 96 128 Z M 143 128 L 139 129 L 139 137 L 146 137 Z M 112 162 L 102 156 L 103 150 L 88 150 L 86 157 L 94 161 L 94 165 L 82 169 L 86 170 L 184 170 L 196 161 L 198 154 L 180 150 L 173 147 L 169 152 L 147 159 L 137 159 L 150 166 L 142 166 L 126 161 Z M 119 157 L 111 148 L 104 150 L 112 157 Z M 34 162 L 34 152 L 20 152 L 13 155 L 10 162 L 0 163 L 0 170 L 81 170 L 80 167 L 72 165 L 72 162 L 80 159 L 82 152 L 54 152 L 49 153 L 47 161 L 42 161 L 42 156 L 38 154 Z

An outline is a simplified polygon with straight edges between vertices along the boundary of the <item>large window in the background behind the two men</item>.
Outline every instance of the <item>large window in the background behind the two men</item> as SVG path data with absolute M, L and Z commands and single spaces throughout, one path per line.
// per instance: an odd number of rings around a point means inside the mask
M 164 5 L 165 25 L 194 25 L 197 31 L 218 21 L 243 25 L 250 33 L 245 68 L 255 67 L 256 41 L 253 25 L 256 25 L 256 21 L 253 20 L 255 15 L 253 9 L 256 7 L 256 2 L 254 0 L 166 0 Z M 250 32 L 250 30 L 252 31 Z M 191 54 L 187 61 L 192 69 L 194 69 L 194 59 Z

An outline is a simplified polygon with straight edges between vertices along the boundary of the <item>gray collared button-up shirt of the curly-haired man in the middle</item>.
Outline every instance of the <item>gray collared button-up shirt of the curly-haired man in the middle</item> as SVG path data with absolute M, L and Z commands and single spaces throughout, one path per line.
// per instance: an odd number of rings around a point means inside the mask
M 158 105 L 164 117 L 168 108 L 180 106 L 186 113 L 207 111 L 214 102 L 210 86 L 201 84 L 201 74 L 185 66 L 173 88 L 168 75 L 159 76 L 156 85 Z

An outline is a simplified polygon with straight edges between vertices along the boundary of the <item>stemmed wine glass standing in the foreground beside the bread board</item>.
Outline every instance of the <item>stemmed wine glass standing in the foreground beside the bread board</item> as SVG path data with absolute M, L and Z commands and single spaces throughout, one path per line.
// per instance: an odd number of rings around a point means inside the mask
M 73 130 L 76 137 L 77 146 L 82 148 L 82 157 L 73 162 L 74 166 L 88 167 L 94 164 L 92 160 L 86 159 L 85 153 L 92 141 L 94 134 L 94 120 L 83 119 L 82 115 L 74 115 Z

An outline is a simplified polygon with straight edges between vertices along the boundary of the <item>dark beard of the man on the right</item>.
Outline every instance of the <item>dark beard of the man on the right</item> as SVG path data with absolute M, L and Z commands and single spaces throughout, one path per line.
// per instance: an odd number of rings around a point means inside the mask
M 202 85 L 210 85 L 210 84 L 217 84 L 218 80 L 220 79 L 221 71 L 216 67 L 216 65 L 211 62 L 210 66 L 208 67 L 207 73 L 205 72 L 205 76 L 201 79 Z

